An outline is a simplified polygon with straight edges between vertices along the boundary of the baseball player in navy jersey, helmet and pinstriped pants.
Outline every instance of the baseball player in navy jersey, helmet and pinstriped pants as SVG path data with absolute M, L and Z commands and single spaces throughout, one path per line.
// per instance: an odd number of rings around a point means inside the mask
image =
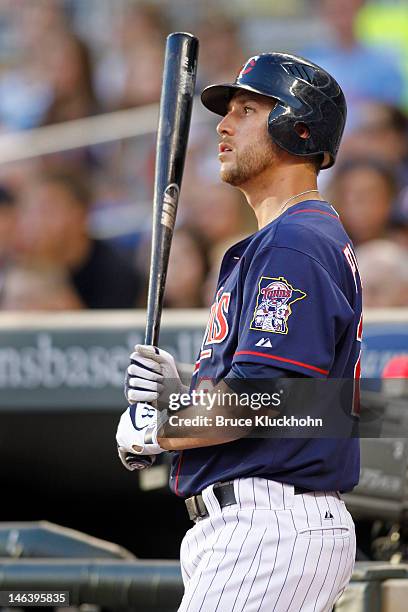
M 201 99 L 222 117 L 221 179 L 245 194 L 259 230 L 224 256 L 190 393 L 210 381 L 215 396 L 257 378 L 358 383 L 358 268 L 338 214 L 317 188 L 346 120 L 339 85 L 303 58 L 266 53 Z M 180 612 L 332 610 L 355 558 L 341 493 L 358 481 L 358 440 L 255 438 L 246 427 L 213 435 L 208 419 L 198 429 L 188 421 L 211 414 L 205 402 L 181 409 L 179 426 L 170 427 L 170 418 L 163 425 L 164 413 L 151 404 L 166 405 L 168 379 L 173 392 L 185 391 L 171 355 L 136 346 L 117 441 L 129 469 L 173 451 L 170 485 L 194 523 L 181 545 Z M 231 416 L 217 401 L 216 413 Z M 325 409 L 330 418 L 332 406 Z

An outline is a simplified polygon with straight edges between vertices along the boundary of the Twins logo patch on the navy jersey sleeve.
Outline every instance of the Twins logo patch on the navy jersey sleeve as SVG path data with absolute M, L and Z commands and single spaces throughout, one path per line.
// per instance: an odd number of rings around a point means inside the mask
M 261 276 L 254 315 L 249 328 L 273 334 L 287 334 L 292 304 L 305 297 L 304 291 L 294 289 L 283 276 L 278 278 Z

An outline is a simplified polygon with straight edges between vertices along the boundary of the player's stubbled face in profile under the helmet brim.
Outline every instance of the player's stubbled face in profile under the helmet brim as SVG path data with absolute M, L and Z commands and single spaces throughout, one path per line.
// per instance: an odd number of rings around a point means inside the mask
M 277 157 L 277 147 L 268 134 L 268 115 L 275 102 L 265 96 L 239 92 L 228 113 L 218 124 L 221 138 L 218 158 L 221 179 L 244 185 L 261 175 Z

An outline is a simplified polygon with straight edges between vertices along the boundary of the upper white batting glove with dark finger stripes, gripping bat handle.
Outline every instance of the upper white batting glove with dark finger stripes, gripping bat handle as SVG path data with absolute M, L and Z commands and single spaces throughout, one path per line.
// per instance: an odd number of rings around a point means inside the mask
M 148 344 L 136 344 L 127 369 L 125 396 L 130 404 L 159 402 L 167 405 L 171 393 L 187 393 L 170 353 Z

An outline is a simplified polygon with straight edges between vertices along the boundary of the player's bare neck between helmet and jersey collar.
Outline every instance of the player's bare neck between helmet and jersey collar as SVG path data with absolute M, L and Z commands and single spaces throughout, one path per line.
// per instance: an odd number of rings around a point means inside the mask
M 270 168 L 240 189 L 256 215 L 259 229 L 305 199 L 324 199 L 315 191 L 315 172 L 304 164 Z

